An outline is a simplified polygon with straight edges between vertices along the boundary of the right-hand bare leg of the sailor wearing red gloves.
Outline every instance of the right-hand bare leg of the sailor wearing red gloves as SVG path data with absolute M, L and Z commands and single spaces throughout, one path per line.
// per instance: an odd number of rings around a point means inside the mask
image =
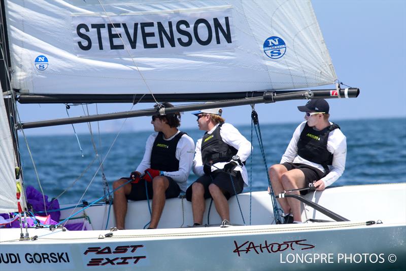
M 152 197 L 152 215 L 150 228 L 156 228 L 159 223 L 159 219 L 162 215 L 163 207 L 165 206 L 165 191 L 169 187 L 169 180 L 165 176 L 156 176 L 152 180 L 152 190 L 154 196 Z

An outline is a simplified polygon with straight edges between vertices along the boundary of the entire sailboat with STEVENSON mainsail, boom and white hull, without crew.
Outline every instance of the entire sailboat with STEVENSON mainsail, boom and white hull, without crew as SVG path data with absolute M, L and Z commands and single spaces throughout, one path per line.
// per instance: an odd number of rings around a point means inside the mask
M 111 202 L 61 206 L 57 226 L 28 227 L 18 130 L 175 111 L 355 98 L 341 88 L 308 1 L 12 1 L 2 8 L 1 270 L 401 269 L 406 266 L 406 184 L 311 192 L 304 224 L 278 224 L 276 196 L 229 200 L 234 226 L 188 227 L 183 197 L 168 199 L 159 229 L 144 230 L 148 201 L 129 202 L 126 230 Z M 330 89 L 308 89 L 331 85 Z M 301 91 L 291 89 L 306 88 Z M 199 102 L 159 107 L 161 102 Z M 204 103 L 212 101 L 212 103 Z M 17 103 L 154 102 L 151 109 L 21 122 Z M 272 106 L 272 105 L 269 105 Z M 93 204 L 97 203 L 97 204 Z M 209 210 L 210 201 L 207 201 Z M 208 212 L 208 211 L 207 211 Z M 249 225 L 243 214 L 250 214 Z M 82 217 L 87 230 L 67 230 Z M 11 221 L 6 221 L 11 222 Z M 90 223 L 91 222 L 91 223 Z

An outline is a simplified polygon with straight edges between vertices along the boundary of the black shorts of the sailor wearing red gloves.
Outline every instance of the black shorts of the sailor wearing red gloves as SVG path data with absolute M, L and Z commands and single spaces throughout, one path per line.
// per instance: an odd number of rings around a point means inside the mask
M 165 191 L 165 197 L 166 198 L 178 197 L 179 194 L 181 193 L 181 189 L 179 188 L 178 184 L 174 181 L 173 178 L 168 176 L 164 177 L 169 180 L 169 187 Z M 122 177 L 122 179 L 130 180 L 129 177 Z M 138 182 L 137 184 L 130 183 L 131 192 L 128 195 L 126 195 L 126 198 L 130 200 L 146 200 L 148 193 L 148 199 L 152 199 L 152 196 L 154 195 L 152 190 L 152 182 L 147 182 L 146 180 L 141 179 L 140 182 Z

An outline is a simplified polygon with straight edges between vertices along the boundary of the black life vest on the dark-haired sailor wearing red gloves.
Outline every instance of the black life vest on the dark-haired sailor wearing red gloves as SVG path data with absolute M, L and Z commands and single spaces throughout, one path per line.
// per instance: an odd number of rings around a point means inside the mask
M 178 171 L 179 160 L 176 159 L 176 146 L 181 137 L 186 134 L 179 132 L 171 140 L 164 140 L 164 135 L 159 132 L 152 145 L 151 168 L 160 171 Z

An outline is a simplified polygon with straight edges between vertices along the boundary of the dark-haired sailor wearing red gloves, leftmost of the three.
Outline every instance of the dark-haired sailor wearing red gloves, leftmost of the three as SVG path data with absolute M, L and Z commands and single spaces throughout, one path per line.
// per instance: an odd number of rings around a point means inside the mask
M 164 107 L 173 107 L 163 103 Z M 153 115 L 153 133 L 147 139 L 144 158 L 130 177 L 122 177 L 113 183 L 114 215 L 118 229 L 124 229 L 127 200 L 152 199 L 149 228 L 156 228 L 165 205 L 165 198 L 178 197 L 186 190 L 186 181 L 192 167 L 194 142 L 186 133 L 178 130 L 180 113 Z M 128 180 L 132 180 L 128 183 Z M 126 184 L 127 183 L 127 184 Z

